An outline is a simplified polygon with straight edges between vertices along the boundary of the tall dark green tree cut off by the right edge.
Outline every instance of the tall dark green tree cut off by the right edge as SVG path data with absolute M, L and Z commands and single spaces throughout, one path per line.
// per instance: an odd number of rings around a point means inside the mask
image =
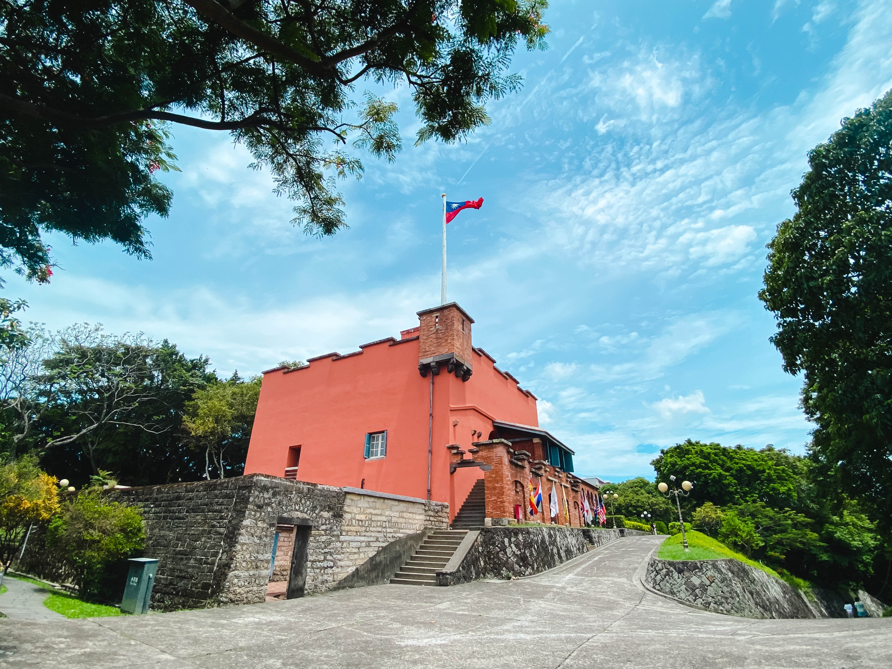
M 811 457 L 892 530 L 892 92 L 844 119 L 808 156 L 797 212 L 768 245 L 759 298 L 774 312 L 772 343 L 803 374 L 816 425 Z

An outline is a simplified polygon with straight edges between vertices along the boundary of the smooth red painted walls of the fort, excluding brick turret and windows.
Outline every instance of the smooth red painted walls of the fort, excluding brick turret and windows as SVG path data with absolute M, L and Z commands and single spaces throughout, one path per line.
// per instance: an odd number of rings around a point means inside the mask
M 474 374 L 462 382 L 445 370 L 434 378 L 431 496 L 455 516 L 483 472 L 450 476 L 447 444 L 467 450 L 488 439 L 492 419 L 538 425 L 535 398 L 475 351 Z M 427 496 L 428 401 L 431 376 L 418 374 L 417 338 L 386 340 L 358 354 L 310 362 L 263 376 L 244 473 L 282 476 L 288 449 L 301 446 L 301 481 Z M 458 425 L 453 425 L 458 420 Z M 365 436 L 387 430 L 387 455 L 365 459 Z M 479 432 L 481 435 L 472 433 Z

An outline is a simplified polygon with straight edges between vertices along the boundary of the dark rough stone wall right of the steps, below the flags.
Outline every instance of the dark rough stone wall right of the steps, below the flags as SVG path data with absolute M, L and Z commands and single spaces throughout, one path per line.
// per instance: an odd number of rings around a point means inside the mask
M 480 578 L 532 576 L 632 532 L 564 525 L 483 527 L 460 565 L 450 574 L 438 574 L 438 581 L 457 585 Z

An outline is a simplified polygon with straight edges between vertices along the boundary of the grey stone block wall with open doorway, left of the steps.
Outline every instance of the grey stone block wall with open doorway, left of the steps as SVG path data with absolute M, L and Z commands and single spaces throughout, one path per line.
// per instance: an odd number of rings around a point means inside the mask
M 144 555 L 159 560 L 152 606 L 163 610 L 263 601 L 277 528 L 311 526 L 309 594 L 333 589 L 392 542 L 446 527 L 449 518 L 442 502 L 260 474 L 107 494 L 139 508 L 145 518 Z M 21 571 L 37 565 L 43 546 L 29 541 Z M 289 558 L 277 560 L 274 580 L 287 579 L 290 567 L 291 544 L 280 548 L 277 553 L 287 550 Z M 378 571 L 365 570 L 372 575 L 353 578 L 352 586 L 380 582 Z

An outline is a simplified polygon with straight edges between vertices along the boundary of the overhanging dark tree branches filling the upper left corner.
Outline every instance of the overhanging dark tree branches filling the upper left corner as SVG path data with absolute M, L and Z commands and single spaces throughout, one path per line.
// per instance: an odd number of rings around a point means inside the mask
M 489 122 L 518 41 L 544 47 L 545 0 L 16 0 L 0 2 L 0 264 L 46 278 L 56 230 L 149 257 L 142 221 L 166 216 L 169 126 L 232 134 L 300 203 L 310 233 L 343 227 L 334 179 L 392 160 L 396 105 L 360 80 L 402 84 L 417 142 Z M 333 148 L 326 145 L 331 142 Z M 326 176 L 327 175 L 327 176 Z

